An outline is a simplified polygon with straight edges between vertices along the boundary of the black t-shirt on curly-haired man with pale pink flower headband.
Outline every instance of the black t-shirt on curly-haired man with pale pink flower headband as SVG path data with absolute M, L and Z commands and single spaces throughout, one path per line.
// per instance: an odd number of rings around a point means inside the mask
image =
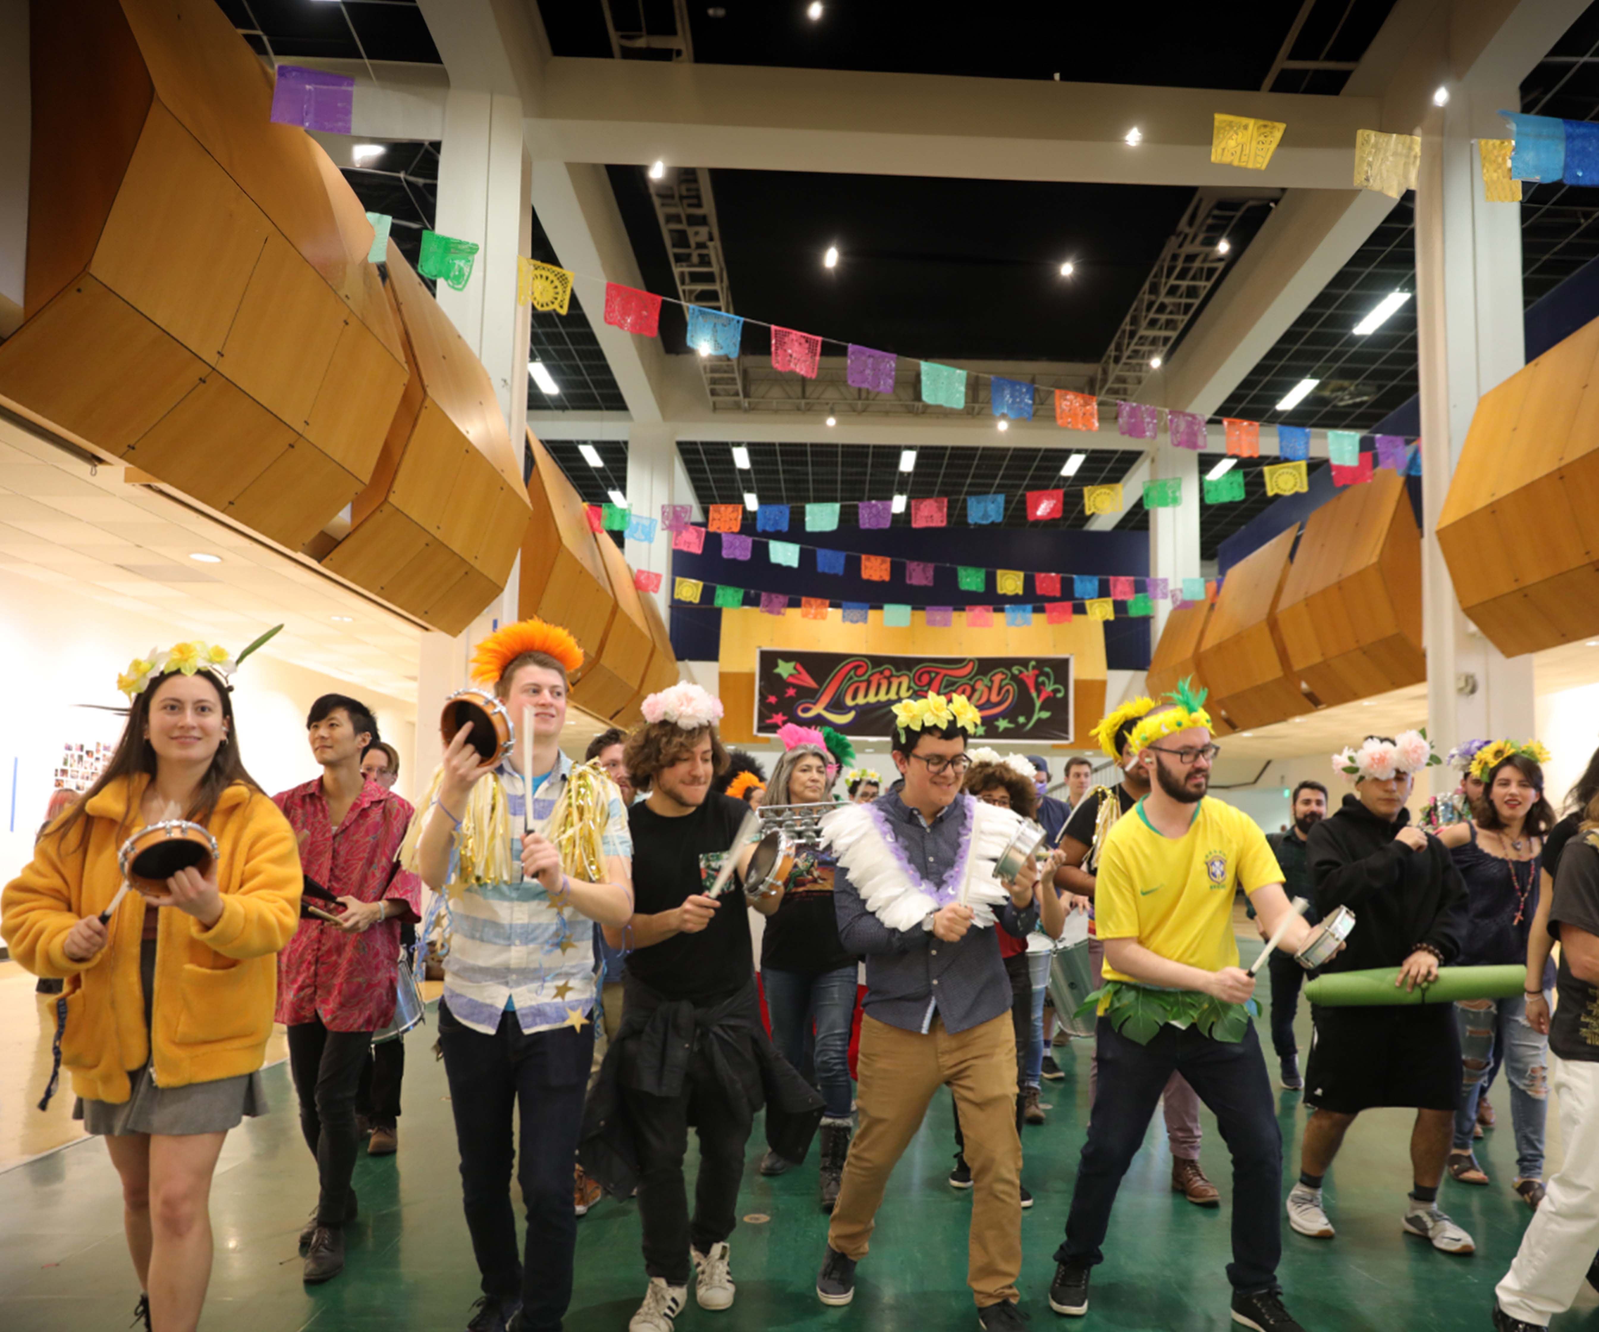
M 633 833 L 633 908 L 641 916 L 681 907 L 716 881 L 716 870 L 750 808 L 742 800 L 708 795 L 681 819 L 656 814 L 644 801 L 627 811 Z M 673 934 L 627 955 L 627 969 L 670 999 L 708 999 L 742 990 L 755 974 L 748 899 L 737 876 L 718 899 L 721 907 L 699 934 Z

